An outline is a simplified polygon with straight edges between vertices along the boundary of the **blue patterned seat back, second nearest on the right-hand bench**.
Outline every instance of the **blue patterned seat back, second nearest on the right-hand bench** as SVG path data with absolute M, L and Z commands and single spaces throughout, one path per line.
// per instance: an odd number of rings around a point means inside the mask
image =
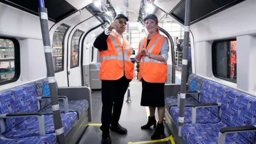
M 201 103 L 217 103 L 222 102 L 223 98 L 226 97 L 226 92 L 229 87 L 215 83 L 210 80 L 206 80 L 201 85 L 200 102 Z M 220 116 L 219 107 L 209 107 L 209 109 L 216 116 Z

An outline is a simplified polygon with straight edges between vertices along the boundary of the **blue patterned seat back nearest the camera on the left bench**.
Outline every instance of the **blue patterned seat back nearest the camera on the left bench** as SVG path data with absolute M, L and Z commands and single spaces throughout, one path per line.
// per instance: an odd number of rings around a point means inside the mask
M 33 86 L 26 84 L 0 92 L 0 114 L 37 112 L 37 93 Z M 25 121 L 28 117 L 6 118 L 5 131 Z M 3 121 L 0 122 L 3 125 Z M 1 129 L 2 132 L 2 129 Z

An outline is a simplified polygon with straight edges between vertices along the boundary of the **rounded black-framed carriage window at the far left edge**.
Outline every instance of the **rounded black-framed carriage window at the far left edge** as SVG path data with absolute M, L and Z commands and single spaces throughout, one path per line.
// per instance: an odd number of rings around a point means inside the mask
M 20 51 L 17 39 L 0 37 L 0 85 L 15 82 L 20 76 Z

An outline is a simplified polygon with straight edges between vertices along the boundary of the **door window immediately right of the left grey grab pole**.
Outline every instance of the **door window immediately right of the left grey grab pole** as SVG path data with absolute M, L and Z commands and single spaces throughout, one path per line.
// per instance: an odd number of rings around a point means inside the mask
M 53 34 L 52 41 L 52 60 L 55 73 L 63 71 L 64 65 L 64 40 L 69 26 L 62 24 Z

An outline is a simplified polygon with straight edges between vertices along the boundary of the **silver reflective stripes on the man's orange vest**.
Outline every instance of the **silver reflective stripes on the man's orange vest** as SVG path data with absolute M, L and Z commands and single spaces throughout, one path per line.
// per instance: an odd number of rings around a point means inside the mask
M 116 41 L 115 37 L 113 35 L 111 35 L 111 34 L 109 36 L 110 36 L 111 40 L 113 41 L 113 43 L 115 44 L 116 52 L 117 52 L 118 56 L 116 56 L 116 55 L 108 55 L 108 56 L 105 56 L 105 57 L 100 57 L 100 61 L 102 61 L 102 60 L 111 60 L 111 59 L 120 60 L 120 61 L 121 60 L 122 61 L 124 61 L 124 60 L 131 61 L 131 59 L 127 57 L 127 53 L 128 53 L 128 51 L 130 49 L 129 44 L 126 42 L 126 52 L 123 55 L 123 53 L 119 49 L 119 45 L 118 45 L 118 42 Z M 122 47 L 122 50 L 123 50 L 123 47 Z

